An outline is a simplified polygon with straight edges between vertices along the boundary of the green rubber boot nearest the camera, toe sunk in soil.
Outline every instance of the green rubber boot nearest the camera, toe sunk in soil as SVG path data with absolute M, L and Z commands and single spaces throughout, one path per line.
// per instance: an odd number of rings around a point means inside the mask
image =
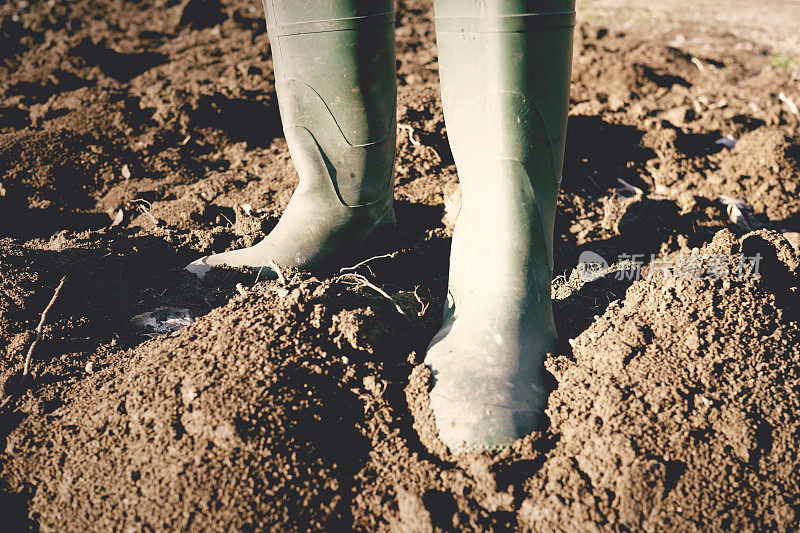
M 556 330 L 553 223 L 564 156 L 574 0 L 436 0 L 445 122 L 462 205 L 431 408 L 452 452 L 533 431 Z

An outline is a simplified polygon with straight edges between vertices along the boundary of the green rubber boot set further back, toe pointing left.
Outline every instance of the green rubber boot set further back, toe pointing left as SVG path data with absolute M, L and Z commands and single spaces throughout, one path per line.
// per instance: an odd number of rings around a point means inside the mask
M 355 259 L 394 225 L 392 0 L 264 0 L 283 131 L 300 183 L 258 244 L 203 257 L 215 265 L 316 269 Z

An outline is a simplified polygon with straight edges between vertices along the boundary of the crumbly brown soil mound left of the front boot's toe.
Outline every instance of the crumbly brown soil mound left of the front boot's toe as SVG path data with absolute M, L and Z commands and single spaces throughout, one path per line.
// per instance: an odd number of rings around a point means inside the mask
M 73 531 L 349 526 L 365 406 L 404 356 L 405 319 L 383 325 L 386 307 L 399 314 L 342 283 L 262 286 L 142 344 L 8 440 L 33 516 Z

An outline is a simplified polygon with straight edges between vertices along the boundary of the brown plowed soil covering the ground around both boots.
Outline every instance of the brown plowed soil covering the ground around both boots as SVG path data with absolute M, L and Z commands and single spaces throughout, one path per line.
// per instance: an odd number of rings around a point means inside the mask
M 398 236 L 354 270 L 385 295 L 182 270 L 268 232 L 297 183 L 260 6 L 0 6 L 4 527 L 800 527 L 796 64 L 691 25 L 579 24 L 547 420 L 454 457 L 421 364 L 458 205 L 431 4 L 398 6 Z M 584 252 L 605 275 L 582 280 Z M 661 272 L 739 255 L 758 273 Z M 195 323 L 130 323 L 165 306 Z

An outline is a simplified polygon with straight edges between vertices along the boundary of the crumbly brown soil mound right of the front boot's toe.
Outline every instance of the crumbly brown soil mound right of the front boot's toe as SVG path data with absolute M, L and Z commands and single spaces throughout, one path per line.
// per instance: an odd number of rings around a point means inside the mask
M 548 361 L 560 438 L 522 524 L 797 527 L 797 255 L 775 234 L 723 231 L 696 257 L 737 254 L 761 254 L 760 276 L 656 274 L 575 340 L 574 359 Z

